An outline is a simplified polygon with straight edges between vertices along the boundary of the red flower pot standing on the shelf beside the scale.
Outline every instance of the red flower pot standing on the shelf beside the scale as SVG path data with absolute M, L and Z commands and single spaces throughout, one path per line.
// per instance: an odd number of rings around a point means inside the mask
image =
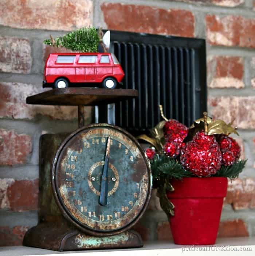
M 215 244 L 223 198 L 227 194 L 227 178 L 184 178 L 171 180 L 173 192 L 167 192 L 174 204 L 170 227 L 175 244 Z

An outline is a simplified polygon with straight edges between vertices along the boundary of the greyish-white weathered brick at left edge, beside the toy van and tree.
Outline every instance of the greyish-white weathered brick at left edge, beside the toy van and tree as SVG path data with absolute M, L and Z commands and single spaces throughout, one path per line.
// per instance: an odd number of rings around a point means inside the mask
M 30 73 L 31 66 L 31 47 L 27 39 L 16 37 L 0 37 L 1 72 L 27 74 Z

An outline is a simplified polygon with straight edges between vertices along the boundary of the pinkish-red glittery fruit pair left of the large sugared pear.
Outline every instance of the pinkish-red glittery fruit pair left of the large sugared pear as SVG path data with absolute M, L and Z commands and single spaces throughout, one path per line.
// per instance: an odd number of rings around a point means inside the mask
M 177 157 L 185 146 L 183 141 L 188 134 L 188 128 L 177 120 L 170 119 L 165 123 L 163 131 L 166 138 L 164 145 L 166 156 Z

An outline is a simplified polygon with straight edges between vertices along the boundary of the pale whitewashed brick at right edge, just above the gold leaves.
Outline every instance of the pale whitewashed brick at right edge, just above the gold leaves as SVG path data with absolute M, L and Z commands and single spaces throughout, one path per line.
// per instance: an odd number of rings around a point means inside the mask
M 208 98 L 208 109 L 214 119 L 226 123 L 234 120 L 240 129 L 255 128 L 255 97 L 219 96 Z

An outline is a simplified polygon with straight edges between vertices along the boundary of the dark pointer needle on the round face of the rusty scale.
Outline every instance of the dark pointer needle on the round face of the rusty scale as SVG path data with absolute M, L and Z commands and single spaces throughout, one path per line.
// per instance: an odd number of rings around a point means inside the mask
M 101 189 L 100 189 L 100 196 L 99 196 L 99 204 L 100 205 L 107 205 L 110 142 L 111 142 L 111 138 L 109 136 L 108 140 L 107 140 L 106 151 L 105 151 L 105 164 L 103 165 L 102 182 L 101 182 Z

